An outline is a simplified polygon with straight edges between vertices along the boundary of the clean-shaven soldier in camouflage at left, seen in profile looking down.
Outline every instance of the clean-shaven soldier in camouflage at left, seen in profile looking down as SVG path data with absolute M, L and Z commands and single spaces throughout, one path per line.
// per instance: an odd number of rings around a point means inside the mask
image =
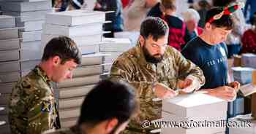
M 72 77 L 81 62 L 72 39 L 60 36 L 45 46 L 42 61 L 12 89 L 9 121 L 12 134 L 36 134 L 60 128 L 53 82 Z

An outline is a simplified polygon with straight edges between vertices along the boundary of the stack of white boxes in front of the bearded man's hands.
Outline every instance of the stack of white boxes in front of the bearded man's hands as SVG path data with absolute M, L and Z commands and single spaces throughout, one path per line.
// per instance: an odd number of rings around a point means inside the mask
M 162 121 L 185 124 L 182 127 L 162 127 L 163 134 L 224 134 L 225 126 L 200 127 L 207 122 L 225 125 L 227 102 L 203 93 L 178 95 L 162 101 Z M 184 123 L 185 122 L 185 123 Z M 200 123 L 199 122 L 203 122 Z M 206 122 L 206 124 L 205 124 Z M 186 125 L 188 123 L 189 125 Z M 211 123 L 208 123 L 211 124 Z

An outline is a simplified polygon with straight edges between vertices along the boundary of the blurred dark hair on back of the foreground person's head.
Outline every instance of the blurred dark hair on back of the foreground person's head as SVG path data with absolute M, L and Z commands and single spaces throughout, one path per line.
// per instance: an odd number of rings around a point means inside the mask
M 126 82 L 103 80 L 83 101 L 78 125 L 96 125 L 107 119 L 118 119 L 118 125 L 138 112 L 135 89 Z

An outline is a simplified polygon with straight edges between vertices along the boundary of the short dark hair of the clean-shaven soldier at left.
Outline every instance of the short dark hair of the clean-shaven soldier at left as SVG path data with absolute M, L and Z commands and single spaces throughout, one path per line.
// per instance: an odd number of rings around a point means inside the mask
M 51 39 L 45 46 L 42 55 L 42 61 L 59 56 L 61 64 L 68 60 L 75 60 L 75 63 L 81 63 L 81 52 L 75 42 L 67 36 L 59 36 Z

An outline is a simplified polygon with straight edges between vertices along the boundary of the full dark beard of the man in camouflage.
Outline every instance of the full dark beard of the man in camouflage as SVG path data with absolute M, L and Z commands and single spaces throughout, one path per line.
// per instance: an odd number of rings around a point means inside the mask
M 148 63 L 159 63 L 162 61 L 163 55 L 161 54 L 151 55 L 146 49 L 145 45 L 143 45 L 142 49 L 143 49 L 144 57 Z M 155 57 L 155 56 L 158 56 L 158 57 Z

